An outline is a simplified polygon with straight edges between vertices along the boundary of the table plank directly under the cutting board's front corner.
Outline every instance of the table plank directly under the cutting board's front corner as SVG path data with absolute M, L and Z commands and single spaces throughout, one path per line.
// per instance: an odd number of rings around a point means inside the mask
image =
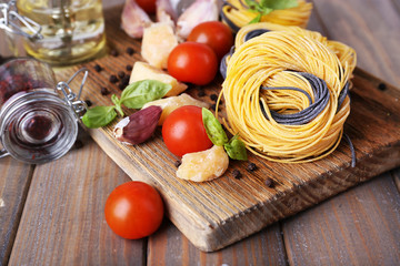
M 243 224 L 242 226 L 246 226 Z M 164 223 L 149 238 L 148 265 L 288 265 L 279 224 L 220 252 L 199 250 L 177 227 Z

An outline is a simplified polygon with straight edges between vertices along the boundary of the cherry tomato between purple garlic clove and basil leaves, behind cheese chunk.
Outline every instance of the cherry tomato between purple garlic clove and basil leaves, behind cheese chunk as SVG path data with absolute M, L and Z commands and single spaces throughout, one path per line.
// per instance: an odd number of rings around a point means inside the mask
M 212 146 L 207 135 L 201 108 L 184 105 L 170 113 L 162 124 L 162 139 L 168 150 L 181 157 Z

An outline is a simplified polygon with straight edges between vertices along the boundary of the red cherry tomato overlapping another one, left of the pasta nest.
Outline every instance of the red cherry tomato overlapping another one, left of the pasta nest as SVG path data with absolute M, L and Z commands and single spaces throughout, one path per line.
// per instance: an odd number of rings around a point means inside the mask
M 217 55 L 203 43 L 180 43 L 168 57 L 168 72 L 179 81 L 206 85 L 213 80 L 217 70 Z

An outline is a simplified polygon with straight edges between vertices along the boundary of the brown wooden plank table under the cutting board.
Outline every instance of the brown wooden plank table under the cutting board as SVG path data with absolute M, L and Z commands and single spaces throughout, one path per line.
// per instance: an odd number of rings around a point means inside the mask
M 400 1 L 314 0 L 309 29 L 353 47 L 358 66 L 400 88 Z M 1 48 L 2 50 L 3 48 Z M 384 89 L 381 85 L 380 89 Z M 398 91 L 384 93 L 399 98 Z M 0 160 L 0 265 L 398 265 L 400 168 L 274 223 L 222 250 L 197 249 L 169 221 L 126 241 L 103 217 L 130 178 L 83 132 L 62 158 Z M 246 226 L 246 225 L 243 225 Z

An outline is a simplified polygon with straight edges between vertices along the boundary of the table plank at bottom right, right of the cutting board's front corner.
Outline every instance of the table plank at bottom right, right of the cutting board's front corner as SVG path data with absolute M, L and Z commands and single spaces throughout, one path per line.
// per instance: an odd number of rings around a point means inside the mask
M 283 232 L 290 265 L 397 265 L 399 226 L 400 195 L 384 174 L 289 218 Z

